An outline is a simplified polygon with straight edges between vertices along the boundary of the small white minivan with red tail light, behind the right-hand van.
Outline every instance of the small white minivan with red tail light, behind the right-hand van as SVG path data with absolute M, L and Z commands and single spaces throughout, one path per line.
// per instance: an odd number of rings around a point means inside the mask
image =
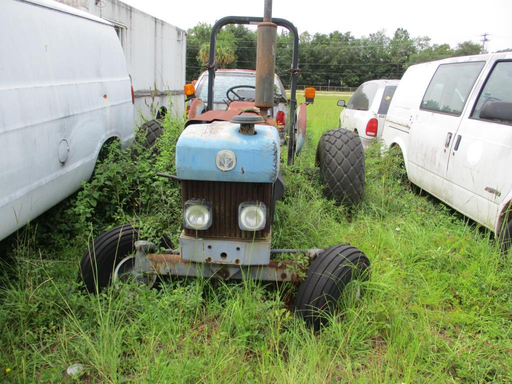
M 400 80 L 372 80 L 362 83 L 339 114 L 339 127 L 359 135 L 366 148 L 382 136 L 382 127 L 388 108 Z

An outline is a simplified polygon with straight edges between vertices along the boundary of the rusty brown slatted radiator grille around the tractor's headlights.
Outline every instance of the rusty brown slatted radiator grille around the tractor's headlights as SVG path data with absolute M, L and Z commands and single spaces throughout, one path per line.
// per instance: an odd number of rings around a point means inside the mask
M 212 222 L 206 230 L 185 228 L 190 236 L 262 239 L 270 232 L 272 183 L 240 183 L 223 181 L 181 181 L 183 204 L 187 200 L 211 203 Z M 243 231 L 238 226 L 238 206 L 244 202 L 262 202 L 267 207 L 266 225 L 260 231 Z

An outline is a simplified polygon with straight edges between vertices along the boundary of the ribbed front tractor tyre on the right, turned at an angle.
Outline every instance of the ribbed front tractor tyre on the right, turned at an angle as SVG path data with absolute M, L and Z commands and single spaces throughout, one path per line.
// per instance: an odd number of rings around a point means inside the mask
M 359 298 L 360 284 L 369 275 L 370 261 L 359 249 L 351 245 L 327 249 L 311 263 L 298 288 L 295 313 L 314 330 L 320 329 L 342 304 L 342 297 Z

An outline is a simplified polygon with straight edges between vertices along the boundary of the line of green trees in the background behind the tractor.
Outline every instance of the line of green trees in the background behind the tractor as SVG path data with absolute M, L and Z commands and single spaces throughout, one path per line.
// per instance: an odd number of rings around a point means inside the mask
M 186 80 L 197 79 L 208 60 L 211 25 L 198 24 L 187 31 Z M 256 68 L 257 32 L 243 25 L 224 27 L 217 36 L 217 68 Z M 446 57 L 479 54 L 473 41 L 431 44 L 429 37 L 411 37 L 398 28 L 393 37 L 385 30 L 354 37 L 350 32 L 329 34 L 303 32 L 299 40 L 298 85 L 358 87 L 374 79 L 400 79 L 416 63 Z M 275 72 L 289 83 L 293 38 L 288 31 L 278 34 Z

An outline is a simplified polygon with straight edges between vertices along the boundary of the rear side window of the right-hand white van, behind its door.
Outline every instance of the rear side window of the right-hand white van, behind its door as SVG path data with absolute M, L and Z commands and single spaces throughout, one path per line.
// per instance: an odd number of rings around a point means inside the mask
M 420 109 L 460 116 L 485 61 L 442 64 L 426 89 Z

